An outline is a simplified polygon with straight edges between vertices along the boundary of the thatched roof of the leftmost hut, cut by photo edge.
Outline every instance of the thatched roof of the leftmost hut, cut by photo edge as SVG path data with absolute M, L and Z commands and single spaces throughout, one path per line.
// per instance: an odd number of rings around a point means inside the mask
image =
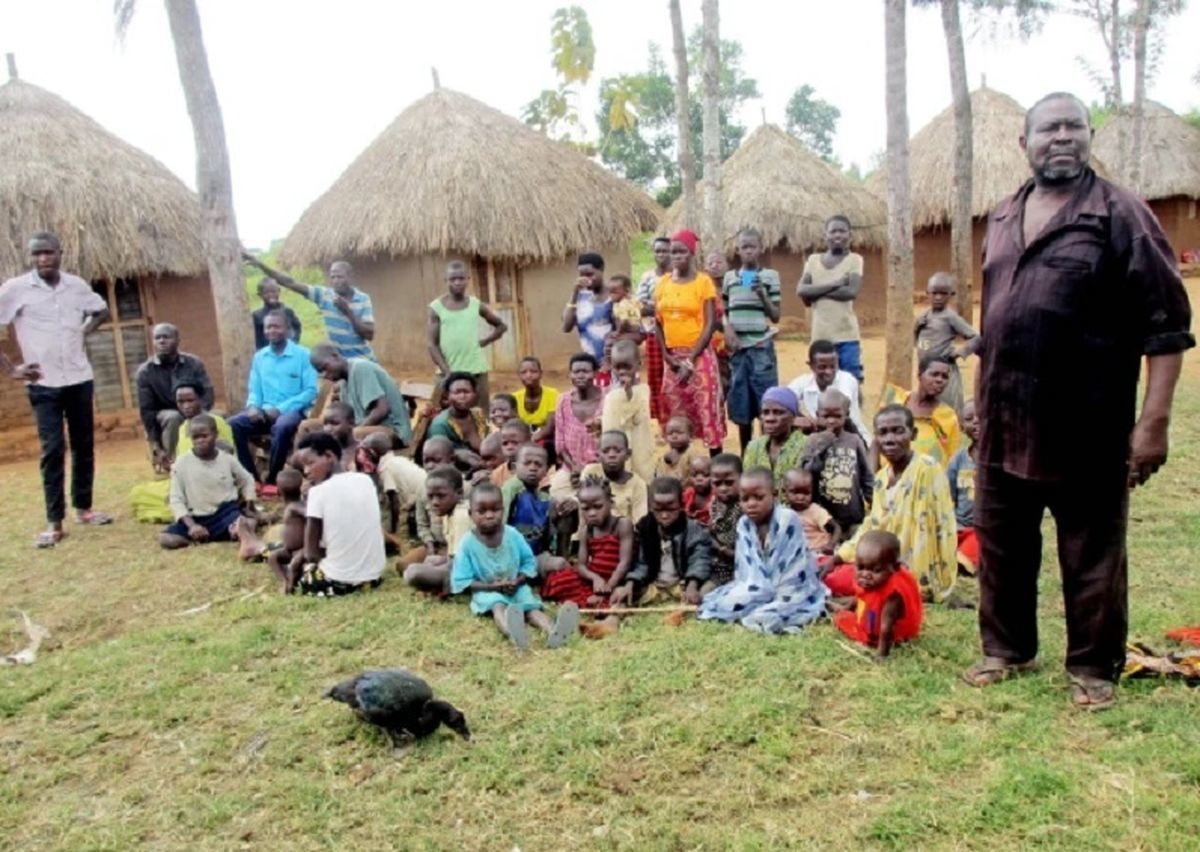
M 179 178 L 44 89 L 0 85 L 0 275 L 29 269 L 35 230 L 85 278 L 206 269 L 200 206 Z

